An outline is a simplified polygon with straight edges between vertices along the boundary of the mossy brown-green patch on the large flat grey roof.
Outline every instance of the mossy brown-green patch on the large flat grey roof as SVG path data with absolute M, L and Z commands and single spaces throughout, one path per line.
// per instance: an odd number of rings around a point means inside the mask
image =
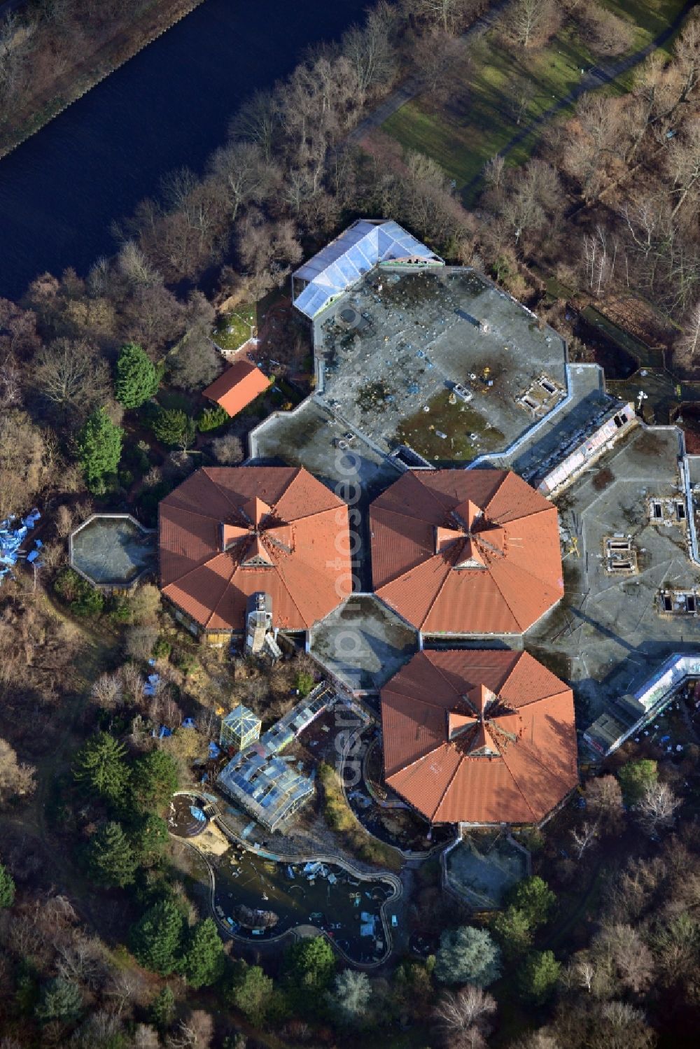
M 457 401 L 442 390 L 427 404 L 429 412 L 416 412 L 397 430 L 397 440 L 408 445 L 430 463 L 469 463 L 482 452 L 492 451 L 503 441 L 503 433 L 489 426 L 480 411 Z M 440 433 L 446 434 L 441 437 Z M 474 438 L 471 434 L 475 434 Z

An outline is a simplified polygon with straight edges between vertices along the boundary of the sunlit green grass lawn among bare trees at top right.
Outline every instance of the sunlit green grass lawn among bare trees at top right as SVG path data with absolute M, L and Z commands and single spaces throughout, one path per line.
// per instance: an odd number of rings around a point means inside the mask
M 633 50 L 644 47 L 678 15 L 683 0 L 606 0 L 606 6 L 635 22 Z M 669 41 L 665 49 L 670 50 Z M 433 157 L 454 179 L 467 207 L 474 202 L 484 165 L 504 150 L 522 128 L 537 120 L 578 86 L 581 69 L 599 64 L 579 40 L 572 23 L 538 51 L 510 51 L 490 33 L 471 49 L 471 66 L 461 95 L 436 108 L 429 99 L 415 99 L 394 113 L 382 130 L 407 149 Z M 518 127 L 510 109 L 512 85 L 521 78 L 534 87 Z M 617 90 L 629 90 L 634 70 L 623 74 Z M 610 90 L 610 88 L 607 88 Z M 561 110 L 560 116 L 568 114 Z M 526 135 L 508 152 L 510 165 L 523 164 L 532 153 L 538 132 Z

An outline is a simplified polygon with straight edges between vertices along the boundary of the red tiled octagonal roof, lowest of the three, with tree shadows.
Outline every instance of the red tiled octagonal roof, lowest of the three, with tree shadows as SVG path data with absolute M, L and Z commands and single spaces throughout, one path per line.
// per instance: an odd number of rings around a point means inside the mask
M 381 703 L 386 783 L 432 822 L 539 822 L 578 782 L 572 691 L 528 652 L 418 652 Z

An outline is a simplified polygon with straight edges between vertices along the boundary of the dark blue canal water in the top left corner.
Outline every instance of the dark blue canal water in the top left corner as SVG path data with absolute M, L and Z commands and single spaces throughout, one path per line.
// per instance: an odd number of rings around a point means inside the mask
M 255 88 L 338 36 L 367 0 L 206 0 L 0 160 L 0 296 L 39 273 L 85 274 L 114 251 L 110 224 L 167 171 L 200 171 Z

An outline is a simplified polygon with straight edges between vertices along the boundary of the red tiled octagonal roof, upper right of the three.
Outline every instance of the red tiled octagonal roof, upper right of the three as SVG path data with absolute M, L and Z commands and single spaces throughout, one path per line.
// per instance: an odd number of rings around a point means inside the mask
M 369 518 L 375 592 L 427 634 L 522 634 L 564 594 L 556 508 L 507 470 L 408 471 Z

